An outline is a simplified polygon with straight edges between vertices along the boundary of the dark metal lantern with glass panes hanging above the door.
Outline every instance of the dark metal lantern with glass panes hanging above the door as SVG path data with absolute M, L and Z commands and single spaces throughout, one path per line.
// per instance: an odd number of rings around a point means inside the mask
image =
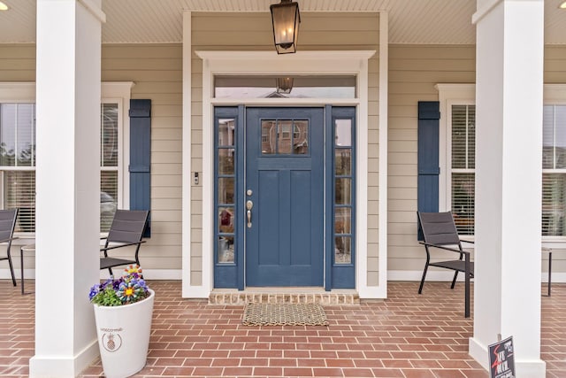
M 299 4 L 290 0 L 281 0 L 279 4 L 272 4 L 273 40 L 278 54 L 287 54 L 296 51 L 297 37 L 299 35 Z

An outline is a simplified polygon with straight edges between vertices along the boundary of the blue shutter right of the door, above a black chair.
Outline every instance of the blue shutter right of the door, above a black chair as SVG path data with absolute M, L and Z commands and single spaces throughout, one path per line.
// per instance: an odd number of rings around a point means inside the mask
M 417 208 L 419 212 L 439 211 L 439 131 L 440 103 L 418 103 L 418 180 Z M 418 240 L 423 236 L 418 228 Z

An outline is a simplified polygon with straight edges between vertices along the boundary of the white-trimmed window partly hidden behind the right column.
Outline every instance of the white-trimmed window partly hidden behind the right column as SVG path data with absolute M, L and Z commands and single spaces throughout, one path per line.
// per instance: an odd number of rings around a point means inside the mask
M 439 84 L 441 122 L 440 201 L 455 214 L 460 235 L 474 234 L 475 87 Z M 542 145 L 542 235 L 566 236 L 566 86 L 545 85 Z M 457 98 L 457 99 L 455 99 Z M 444 184 L 444 185 L 443 185 Z M 443 190 L 443 191 L 442 191 Z

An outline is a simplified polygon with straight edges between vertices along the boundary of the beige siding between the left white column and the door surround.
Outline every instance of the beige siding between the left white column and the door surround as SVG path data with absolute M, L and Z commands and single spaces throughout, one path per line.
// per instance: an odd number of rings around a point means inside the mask
M 146 269 L 180 269 L 182 47 L 103 45 L 102 80 L 134 81 L 132 98 L 151 100 L 152 235 L 140 259 Z

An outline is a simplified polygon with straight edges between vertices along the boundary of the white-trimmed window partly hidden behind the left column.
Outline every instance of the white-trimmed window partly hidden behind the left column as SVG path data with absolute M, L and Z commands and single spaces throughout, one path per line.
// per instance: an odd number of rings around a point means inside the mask
M 101 101 L 101 232 L 108 231 L 114 212 L 127 200 L 121 168 L 127 152 L 123 141 L 128 140 L 123 104 L 131 86 L 110 83 L 106 92 L 112 98 Z M 34 84 L 0 83 L 0 201 L 3 209 L 19 208 L 17 233 L 35 231 L 35 143 Z

